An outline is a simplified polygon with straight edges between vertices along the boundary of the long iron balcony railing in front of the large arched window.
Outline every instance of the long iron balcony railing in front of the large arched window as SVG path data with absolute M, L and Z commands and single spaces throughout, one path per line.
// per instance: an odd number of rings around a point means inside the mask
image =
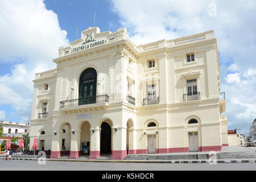
M 75 107 L 80 105 L 98 104 L 98 103 L 104 103 L 104 102 L 109 102 L 108 95 L 76 98 L 68 101 L 60 101 L 60 109 L 65 109 L 65 108 Z

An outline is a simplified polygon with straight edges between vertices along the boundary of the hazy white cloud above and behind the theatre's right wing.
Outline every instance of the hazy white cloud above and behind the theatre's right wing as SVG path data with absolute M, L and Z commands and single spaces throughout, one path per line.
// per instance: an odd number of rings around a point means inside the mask
M 256 24 L 252 23 L 256 18 L 256 1 L 112 2 L 114 11 L 121 16 L 120 22 L 136 45 L 214 30 L 229 127 L 249 130 L 249 123 L 256 117 L 253 91 L 256 90 Z M 209 16 L 213 10 L 213 6 L 209 6 L 211 3 L 216 5 L 216 16 Z M 235 73 L 227 75 L 227 71 Z

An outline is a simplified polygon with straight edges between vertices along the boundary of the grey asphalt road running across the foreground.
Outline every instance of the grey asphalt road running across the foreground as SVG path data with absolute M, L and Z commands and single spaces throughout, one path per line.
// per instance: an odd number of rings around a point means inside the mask
M 38 164 L 34 160 L 0 160 L 0 171 L 255 171 L 256 163 L 217 163 L 217 164 L 161 164 L 161 163 L 91 163 L 54 162 Z

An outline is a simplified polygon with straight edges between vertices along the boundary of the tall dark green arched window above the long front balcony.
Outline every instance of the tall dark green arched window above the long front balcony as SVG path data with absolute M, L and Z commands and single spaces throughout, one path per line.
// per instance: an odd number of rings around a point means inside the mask
M 97 72 L 93 68 L 85 69 L 79 78 L 79 105 L 96 102 Z M 90 98 L 88 98 L 90 97 Z

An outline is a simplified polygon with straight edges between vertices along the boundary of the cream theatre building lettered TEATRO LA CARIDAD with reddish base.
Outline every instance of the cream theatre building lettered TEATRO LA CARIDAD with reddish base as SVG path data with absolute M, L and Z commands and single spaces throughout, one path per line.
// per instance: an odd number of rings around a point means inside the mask
M 56 50 L 57 51 L 57 50 Z M 36 73 L 30 143 L 51 158 L 220 151 L 228 145 L 213 31 L 135 46 L 89 27 Z M 32 144 L 31 144 L 32 146 Z

